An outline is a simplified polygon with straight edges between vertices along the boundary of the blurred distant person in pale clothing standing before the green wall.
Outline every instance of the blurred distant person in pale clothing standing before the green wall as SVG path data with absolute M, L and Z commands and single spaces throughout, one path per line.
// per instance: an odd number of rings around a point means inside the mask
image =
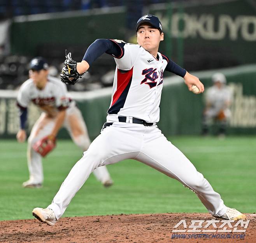
M 219 135 L 224 136 L 231 117 L 231 89 L 226 85 L 224 74 L 217 72 L 212 76 L 213 85 L 205 92 L 205 110 L 203 112 L 203 135 L 209 133 L 209 126 L 219 125 Z

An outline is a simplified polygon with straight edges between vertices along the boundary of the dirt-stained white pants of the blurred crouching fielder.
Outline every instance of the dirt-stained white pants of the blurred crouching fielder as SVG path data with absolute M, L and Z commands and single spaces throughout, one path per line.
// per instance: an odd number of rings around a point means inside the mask
M 53 130 L 55 124 L 55 118 L 47 116 L 46 113 L 42 113 L 32 128 L 30 136 L 28 138 L 28 170 L 30 174 L 29 181 L 34 184 L 42 183 L 44 180 L 42 156 L 33 150 L 32 146 L 41 138 L 49 135 Z M 91 143 L 86 124 L 82 117 L 80 110 L 76 106 L 69 107 L 66 110 L 66 117 L 63 126 L 68 130 L 74 143 L 81 148 L 82 151 L 86 151 Z M 93 171 L 96 179 L 104 183 L 110 180 L 110 175 L 105 166 L 97 168 Z

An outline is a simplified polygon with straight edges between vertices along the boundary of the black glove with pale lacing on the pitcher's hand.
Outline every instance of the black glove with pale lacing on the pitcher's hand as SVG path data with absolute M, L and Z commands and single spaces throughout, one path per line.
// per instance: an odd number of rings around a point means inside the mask
M 81 78 L 84 74 L 79 74 L 77 72 L 77 62 L 72 59 L 71 52 L 67 54 L 66 50 L 65 55 L 66 60 L 63 63 L 64 67 L 61 70 L 60 79 L 65 84 L 74 85 L 78 81 L 78 79 Z

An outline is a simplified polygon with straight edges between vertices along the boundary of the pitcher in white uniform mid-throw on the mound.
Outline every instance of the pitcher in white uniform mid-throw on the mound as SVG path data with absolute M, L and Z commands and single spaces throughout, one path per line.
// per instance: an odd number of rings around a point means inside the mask
M 95 168 L 135 159 L 194 191 L 214 217 L 226 220 L 245 218 L 239 211 L 224 205 L 207 179 L 156 126 L 160 118 L 163 71 L 184 78 L 190 91 L 192 85 L 196 85 L 198 93 L 202 93 L 203 84 L 158 52 L 164 37 L 158 17 L 150 14 L 142 16 L 135 30 L 138 45 L 99 39 L 89 46 L 82 62 L 72 60 L 71 53 L 66 55 L 61 80 L 72 84 L 76 74 L 86 72 L 97 57 L 103 53 L 112 55 L 116 62 L 112 99 L 101 134 L 69 172 L 52 203 L 46 209 L 35 208 L 32 214 L 53 226 Z

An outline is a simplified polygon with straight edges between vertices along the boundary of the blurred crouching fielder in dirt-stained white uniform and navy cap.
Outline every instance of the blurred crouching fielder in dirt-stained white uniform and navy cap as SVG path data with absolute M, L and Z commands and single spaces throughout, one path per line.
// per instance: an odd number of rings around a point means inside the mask
M 42 186 L 44 180 L 42 156 L 33 149 L 33 145 L 40 139 L 48 136 L 50 140 L 54 140 L 61 126 L 64 126 L 82 151 L 86 151 L 91 143 L 80 110 L 75 102 L 67 97 L 66 85 L 60 79 L 49 76 L 47 69 L 48 64 L 42 57 L 32 59 L 30 79 L 21 85 L 18 93 L 21 128 L 16 137 L 19 142 L 26 140 L 25 122 L 28 104 L 32 101 L 43 111 L 28 138 L 27 159 L 30 178 L 23 183 L 24 187 Z M 93 173 L 104 186 L 112 184 L 105 166 L 95 169 Z

